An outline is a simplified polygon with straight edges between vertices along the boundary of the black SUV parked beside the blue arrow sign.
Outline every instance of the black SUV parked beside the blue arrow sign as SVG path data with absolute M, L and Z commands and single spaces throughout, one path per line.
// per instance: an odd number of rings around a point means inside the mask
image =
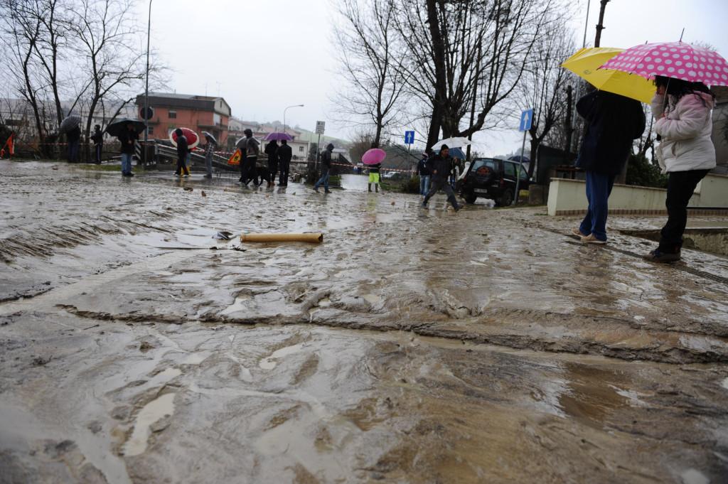
M 478 197 L 493 199 L 496 207 L 510 205 L 515 194 L 518 162 L 506 159 L 476 158 L 467 167 L 458 182 L 461 196 L 467 203 L 475 203 Z M 521 168 L 519 189 L 529 189 L 529 174 Z

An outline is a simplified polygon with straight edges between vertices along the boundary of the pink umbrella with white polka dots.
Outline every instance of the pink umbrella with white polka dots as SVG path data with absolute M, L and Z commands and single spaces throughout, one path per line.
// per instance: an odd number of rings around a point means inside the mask
M 708 86 L 728 86 L 728 62 L 718 52 L 684 42 L 630 47 L 600 68 L 654 79 L 665 76 Z

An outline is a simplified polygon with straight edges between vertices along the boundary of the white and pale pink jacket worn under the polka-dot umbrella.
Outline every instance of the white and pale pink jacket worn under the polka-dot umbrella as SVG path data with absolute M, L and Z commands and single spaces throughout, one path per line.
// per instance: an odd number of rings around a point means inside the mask
M 711 140 L 713 96 L 705 92 L 684 95 L 663 118 L 664 101 L 661 95 L 652 98 L 652 115 L 657 119 L 654 131 L 662 137 L 655 148 L 662 172 L 715 168 L 716 148 Z

